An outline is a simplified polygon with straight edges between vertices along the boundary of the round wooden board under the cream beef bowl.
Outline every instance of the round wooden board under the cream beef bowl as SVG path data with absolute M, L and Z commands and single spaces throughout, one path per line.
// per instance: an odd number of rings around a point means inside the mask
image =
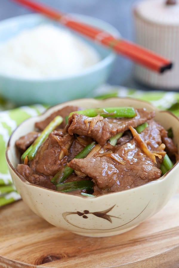
M 179 190 L 156 215 L 117 236 L 56 228 L 18 201 L 0 210 L 0 267 L 179 268 Z

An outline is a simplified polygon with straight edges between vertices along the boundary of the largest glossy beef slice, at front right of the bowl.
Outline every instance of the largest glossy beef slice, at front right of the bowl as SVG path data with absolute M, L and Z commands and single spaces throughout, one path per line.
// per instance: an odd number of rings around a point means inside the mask
M 103 156 L 92 157 L 88 160 L 73 159 L 68 166 L 92 177 L 98 188 L 109 192 L 122 191 L 160 178 L 161 170 L 155 167 L 134 141 L 133 144 L 126 145 L 129 147 L 125 148 L 125 155 L 123 155 L 123 159 L 126 159 L 124 165 L 110 157 Z M 121 155 L 120 153 L 119 151 L 118 155 Z M 127 159 L 131 155 L 132 159 Z

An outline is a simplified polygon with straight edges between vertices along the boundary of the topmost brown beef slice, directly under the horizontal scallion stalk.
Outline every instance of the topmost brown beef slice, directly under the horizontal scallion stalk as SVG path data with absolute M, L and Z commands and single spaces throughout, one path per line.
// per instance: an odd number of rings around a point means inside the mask
M 143 108 L 136 110 L 134 118 L 104 118 L 97 121 L 91 128 L 90 122 L 87 122 L 88 116 L 74 113 L 68 120 L 67 130 L 70 135 L 76 133 L 89 136 L 99 144 L 104 145 L 109 138 L 128 130 L 129 126 L 137 127 L 154 116 L 154 112 L 148 112 Z

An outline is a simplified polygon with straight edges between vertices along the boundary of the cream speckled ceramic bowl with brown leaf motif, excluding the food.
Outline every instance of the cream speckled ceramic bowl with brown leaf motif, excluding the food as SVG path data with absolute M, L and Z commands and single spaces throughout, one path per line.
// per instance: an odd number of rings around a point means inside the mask
M 84 197 L 49 190 L 33 185 L 16 171 L 19 157 L 15 142 L 26 133 L 34 130 L 34 123 L 41 121 L 66 105 L 80 107 L 133 106 L 155 110 L 155 120 L 163 127 L 172 127 L 174 142 L 179 149 L 179 120 L 166 111 L 160 111 L 148 102 L 129 98 L 109 98 L 106 100 L 78 99 L 56 105 L 38 117 L 24 121 L 11 135 L 6 159 L 10 174 L 17 191 L 24 202 L 37 215 L 59 228 L 83 236 L 112 236 L 126 232 L 139 225 L 143 220 L 158 212 L 179 186 L 179 162 L 160 179 L 142 186 L 121 192 L 109 193 L 96 197 Z

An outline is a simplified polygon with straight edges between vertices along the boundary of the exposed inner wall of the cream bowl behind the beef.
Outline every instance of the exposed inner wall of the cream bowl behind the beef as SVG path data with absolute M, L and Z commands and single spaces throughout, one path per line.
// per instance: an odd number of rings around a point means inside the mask
M 14 133 L 11 135 L 10 138 L 10 148 L 11 154 L 7 154 L 7 157 L 10 157 L 10 163 L 14 168 L 16 168 L 17 164 L 19 163 L 19 157 L 16 155 L 15 149 L 15 142 L 16 140 L 22 136 L 27 134 L 28 132 L 34 130 L 34 124 L 37 121 L 44 120 L 48 117 L 51 113 L 65 107 L 67 105 L 74 105 L 84 108 L 93 108 L 93 107 L 114 107 L 114 106 L 131 106 L 134 108 L 143 108 L 145 107 L 149 111 L 155 110 L 155 121 L 159 122 L 165 129 L 169 129 L 172 127 L 173 135 L 174 135 L 174 143 L 178 147 L 179 150 L 179 119 L 172 115 L 172 113 L 168 111 L 161 111 L 158 110 L 156 107 L 152 106 L 149 102 L 143 102 L 137 99 L 129 99 L 129 98 L 109 98 L 106 100 L 96 100 L 96 99 L 77 99 L 72 100 L 70 102 L 65 102 L 59 105 L 55 105 L 48 109 L 44 114 L 36 117 L 32 117 L 24 121 Z M 178 161 L 179 162 L 179 161 Z M 178 163 L 177 162 L 177 163 Z M 159 178 L 158 180 L 161 180 Z M 142 187 L 142 186 L 138 186 Z M 129 190 L 127 190 L 129 191 Z

